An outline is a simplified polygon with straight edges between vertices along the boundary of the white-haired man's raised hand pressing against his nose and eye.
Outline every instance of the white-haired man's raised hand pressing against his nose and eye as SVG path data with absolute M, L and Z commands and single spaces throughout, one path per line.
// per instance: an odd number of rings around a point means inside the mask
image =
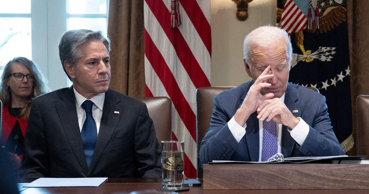
M 268 79 L 272 77 L 272 71 L 270 71 L 270 66 L 268 66 L 255 80 L 255 83 L 250 87 L 244 102 L 242 102 L 241 107 L 234 115 L 234 119 L 238 125 L 244 126 L 251 113 L 255 112 L 262 102 L 274 97 L 273 93 L 266 93 L 264 96 L 262 96 L 262 98 L 259 97 L 259 93 L 262 88 L 271 86 L 271 84 L 267 82 Z

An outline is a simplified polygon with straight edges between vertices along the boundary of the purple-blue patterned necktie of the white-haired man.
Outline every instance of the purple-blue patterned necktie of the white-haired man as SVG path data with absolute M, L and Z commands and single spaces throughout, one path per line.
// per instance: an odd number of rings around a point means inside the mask
M 267 161 L 277 151 L 277 123 L 273 120 L 263 121 L 263 147 L 261 150 L 261 161 Z

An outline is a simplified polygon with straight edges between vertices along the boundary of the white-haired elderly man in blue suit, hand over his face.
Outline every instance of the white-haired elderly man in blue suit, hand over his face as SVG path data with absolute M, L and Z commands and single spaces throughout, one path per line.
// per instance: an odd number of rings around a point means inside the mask
M 288 82 L 288 34 L 263 26 L 244 41 L 252 81 L 215 96 L 210 128 L 201 142 L 200 168 L 212 160 L 266 161 L 284 157 L 345 155 L 328 117 L 325 97 Z

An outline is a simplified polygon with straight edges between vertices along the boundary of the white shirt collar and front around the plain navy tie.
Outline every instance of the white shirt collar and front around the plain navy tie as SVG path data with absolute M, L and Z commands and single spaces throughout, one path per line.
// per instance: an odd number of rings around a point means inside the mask
M 87 100 L 87 98 L 80 95 L 74 88 L 73 88 L 73 91 L 74 91 L 74 95 L 76 96 L 76 108 L 77 108 L 79 131 L 82 132 L 82 126 L 86 120 L 86 112 L 85 112 L 85 109 L 83 109 L 81 105 L 83 102 Z M 99 93 L 90 99 L 90 101 L 94 103 L 94 105 L 92 105 L 92 117 L 96 123 L 97 134 L 99 134 L 100 120 L 101 120 L 101 116 L 103 115 L 104 100 L 105 100 L 105 93 Z

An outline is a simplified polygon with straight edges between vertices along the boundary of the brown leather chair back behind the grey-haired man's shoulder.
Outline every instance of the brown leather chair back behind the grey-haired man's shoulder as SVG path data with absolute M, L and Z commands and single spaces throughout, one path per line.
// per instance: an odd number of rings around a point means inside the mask
M 136 99 L 146 104 L 149 116 L 154 122 L 159 143 L 172 140 L 172 101 L 170 98 L 160 96 Z

